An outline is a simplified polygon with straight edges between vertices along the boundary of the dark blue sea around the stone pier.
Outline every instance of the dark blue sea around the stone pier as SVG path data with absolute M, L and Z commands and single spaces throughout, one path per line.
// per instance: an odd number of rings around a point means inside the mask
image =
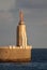
M 47 70 L 47 48 L 33 48 L 31 62 L 2 62 L 0 70 Z

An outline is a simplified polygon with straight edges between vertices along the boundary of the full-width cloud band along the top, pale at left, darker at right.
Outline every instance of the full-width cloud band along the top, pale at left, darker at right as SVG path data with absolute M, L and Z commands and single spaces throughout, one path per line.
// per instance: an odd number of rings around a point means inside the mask
M 0 0 L 0 11 L 47 8 L 47 0 Z

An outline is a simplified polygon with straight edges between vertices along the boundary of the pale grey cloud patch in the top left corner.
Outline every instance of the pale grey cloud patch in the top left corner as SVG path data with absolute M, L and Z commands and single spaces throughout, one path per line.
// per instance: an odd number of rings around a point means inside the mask
M 14 9 L 15 0 L 0 0 L 0 10 Z

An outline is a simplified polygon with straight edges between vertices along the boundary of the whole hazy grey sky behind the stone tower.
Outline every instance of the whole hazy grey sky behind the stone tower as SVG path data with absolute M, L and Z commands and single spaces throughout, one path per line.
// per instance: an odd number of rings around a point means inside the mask
M 47 48 L 47 0 L 0 0 L 0 46 L 16 45 L 16 27 L 22 10 L 28 43 Z

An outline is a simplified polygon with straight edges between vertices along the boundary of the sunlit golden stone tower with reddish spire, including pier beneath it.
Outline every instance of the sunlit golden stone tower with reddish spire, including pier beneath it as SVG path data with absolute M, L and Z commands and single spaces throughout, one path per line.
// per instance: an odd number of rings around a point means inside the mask
M 17 45 L 0 46 L 0 61 L 30 61 L 32 46 L 27 43 L 26 25 L 22 11 L 17 26 Z

